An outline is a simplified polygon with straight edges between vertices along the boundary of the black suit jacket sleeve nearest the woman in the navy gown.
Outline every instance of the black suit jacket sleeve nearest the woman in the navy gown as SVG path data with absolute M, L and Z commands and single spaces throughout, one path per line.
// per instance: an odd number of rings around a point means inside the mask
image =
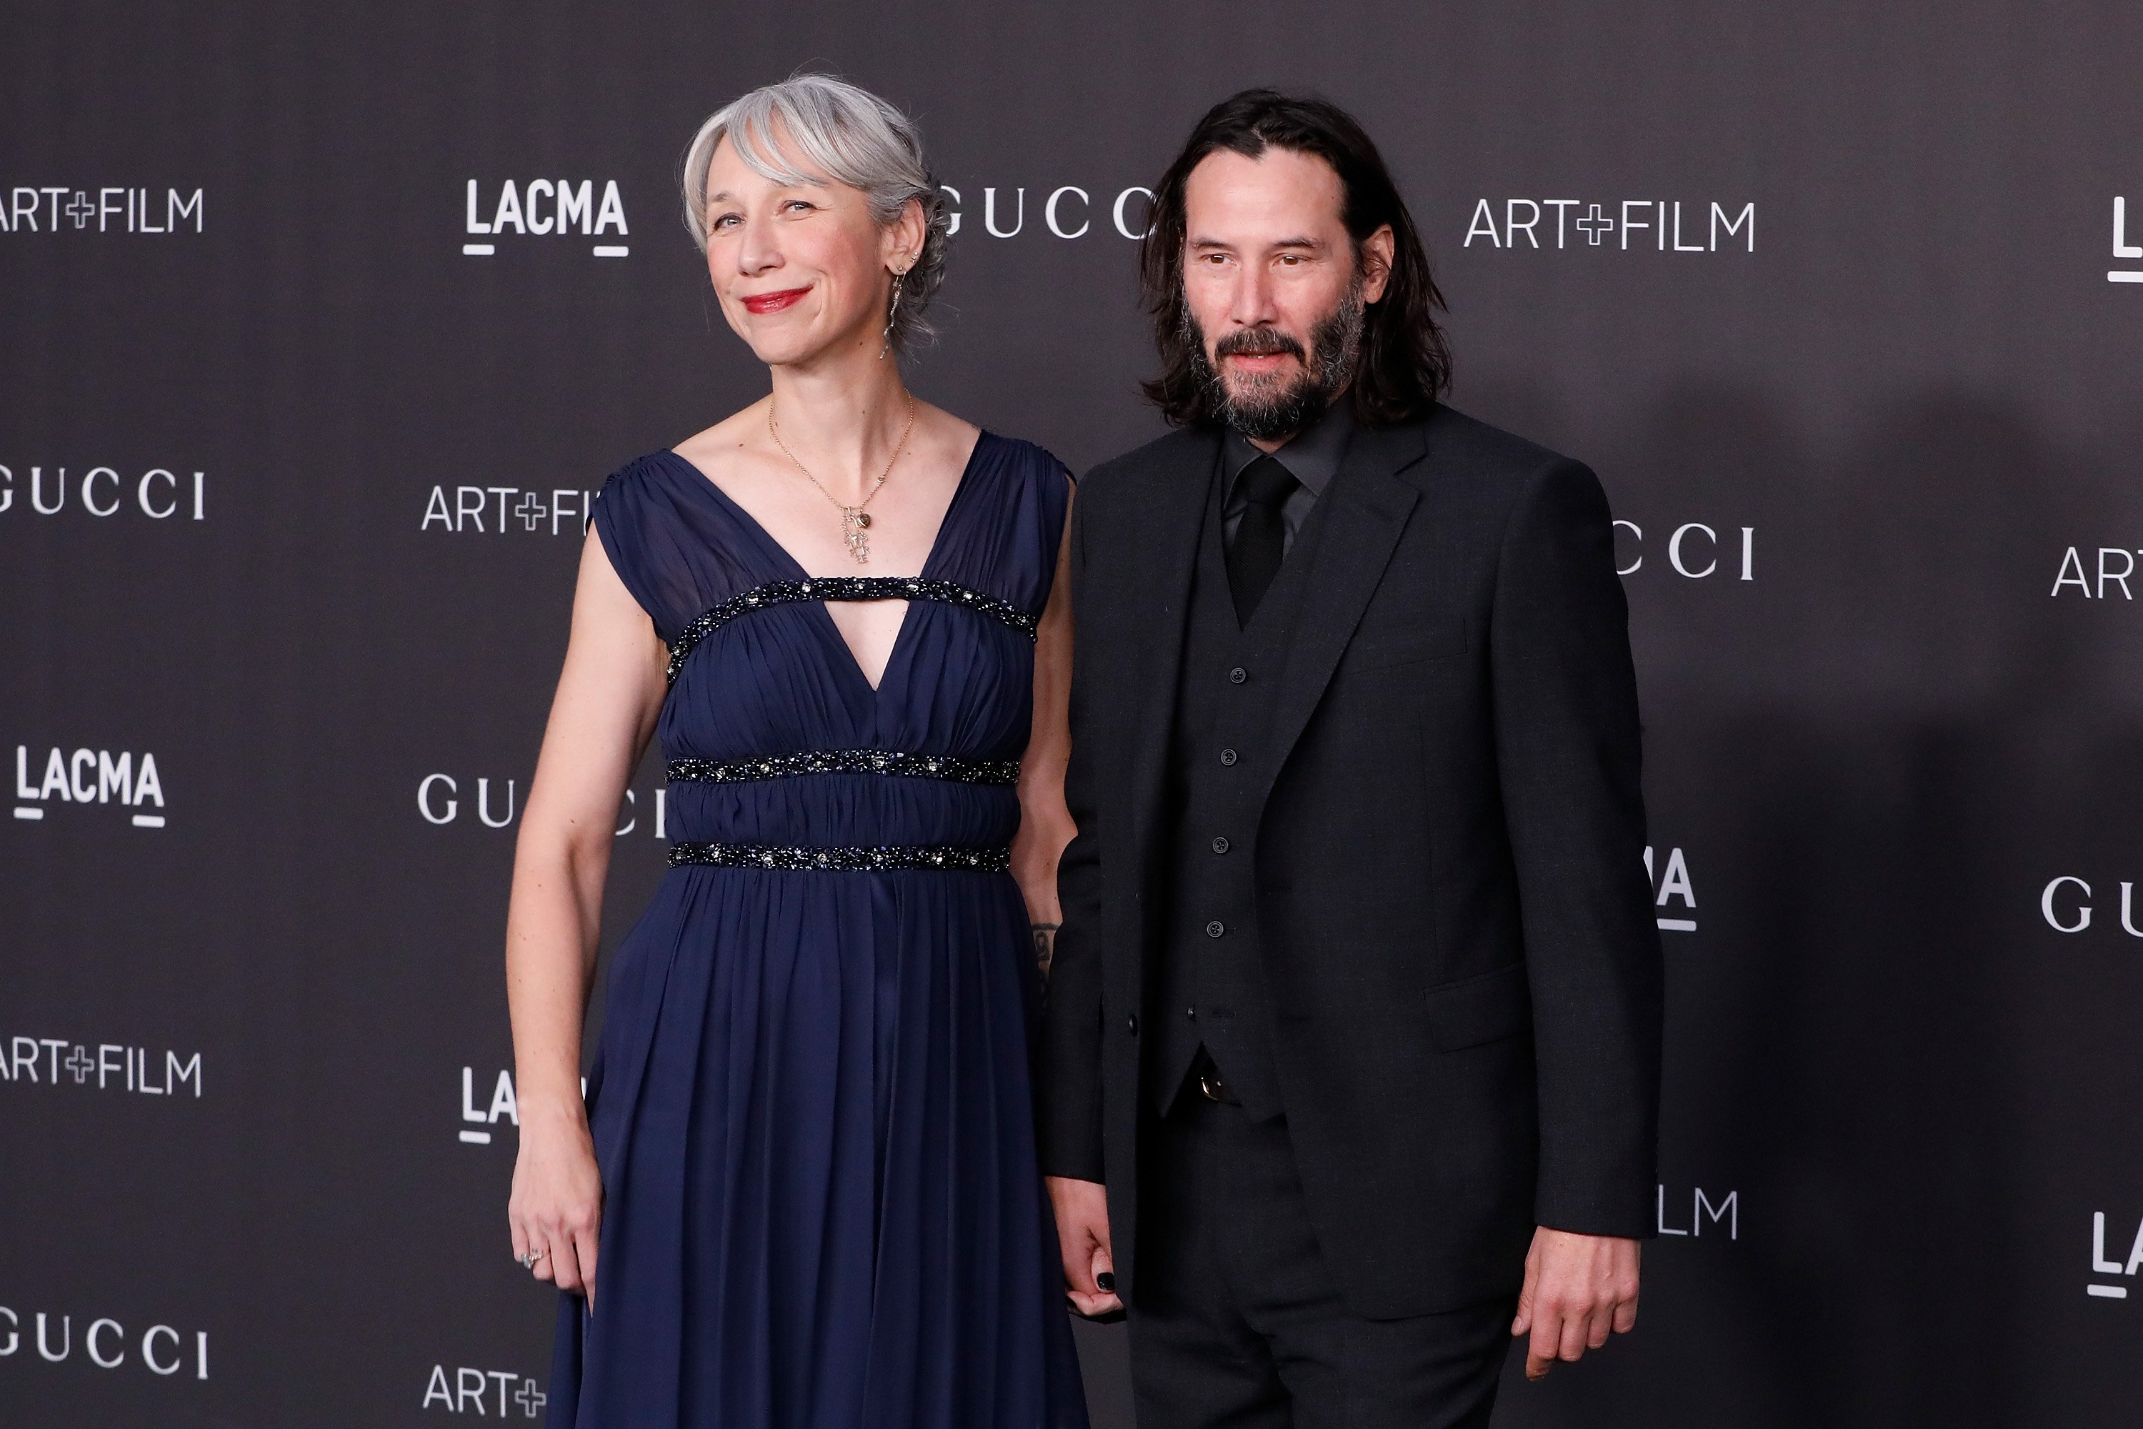
M 1104 1180 L 1102 1170 L 1102 827 L 1095 761 L 1106 752 L 1093 726 L 1093 677 L 1087 660 L 1087 510 L 1072 508 L 1072 765 L 1065 803 L 1076 836 L 1056 861 L 1063 926 L 1050 958 L 1050 996 L 1041 1022 L 1039 1150 L 1048 1176 Z

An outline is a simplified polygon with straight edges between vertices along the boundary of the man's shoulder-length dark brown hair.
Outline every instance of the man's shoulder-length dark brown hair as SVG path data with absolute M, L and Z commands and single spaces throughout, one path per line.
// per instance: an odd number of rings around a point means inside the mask
M 1192 131 L 1183 152 L 1153 195 L 1153 223 L 1140 249 L 1142 302 L 1153 313 L 1153 343 L 1162 351 L 1162 375 L 1140 383 L 1177 426 L 1215 420 L 1213 392 L 1198 379 L 1198 336 L 1183 304 L 1183 189 L 1192 169 L 1215 150 L 1258 159 L 1267 148 L 1314 154 L 1339 176 L 1342 223 L 1361 242 L 1391 225 L 1391 279 L 1384 296 L 1363 313 L 1361 364 L 1348 388 L 1354 416 L 1367 424 L 1421 418 L 1451 386 L 1451 347 L 1436 313 L 1444 296 L 1429 274 L 1429 255 L 1414 231 L 1414 219 L 1391 182 L 1384 156 L 1339 105 L 1324 99 L 1292 99 L 1277 90 L 1243 90 L 1213 105 Z

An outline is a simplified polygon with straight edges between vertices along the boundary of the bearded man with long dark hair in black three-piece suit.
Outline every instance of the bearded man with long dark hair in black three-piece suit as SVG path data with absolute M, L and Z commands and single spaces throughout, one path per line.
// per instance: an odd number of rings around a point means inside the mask
M 1179 426 L 1080 482 L 1041 1155 L 1140 1420 L 1483 1425 L 1627 1330 L 1661 960 L 1594 476 L 1438 403 L 1376 146 L 1249 90 L 1144 246 Z

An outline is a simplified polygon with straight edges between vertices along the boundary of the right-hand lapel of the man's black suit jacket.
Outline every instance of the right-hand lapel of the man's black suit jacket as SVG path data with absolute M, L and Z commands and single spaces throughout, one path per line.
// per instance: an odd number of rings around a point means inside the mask
M 1324 698 L 1324 686 L 1339 668 L 1339 653 L 1384 578 L 1391 551 L 1421 499 L 1397 473 L 1425 452 L 1419 426 L 1365 426 L 1354 433 L 1327 488 L 1324 499 L 1333 506 L 1305 572 L 1288 660 L 1273 696 L 1271 758 L 1262 767 L 1260 806 Z

